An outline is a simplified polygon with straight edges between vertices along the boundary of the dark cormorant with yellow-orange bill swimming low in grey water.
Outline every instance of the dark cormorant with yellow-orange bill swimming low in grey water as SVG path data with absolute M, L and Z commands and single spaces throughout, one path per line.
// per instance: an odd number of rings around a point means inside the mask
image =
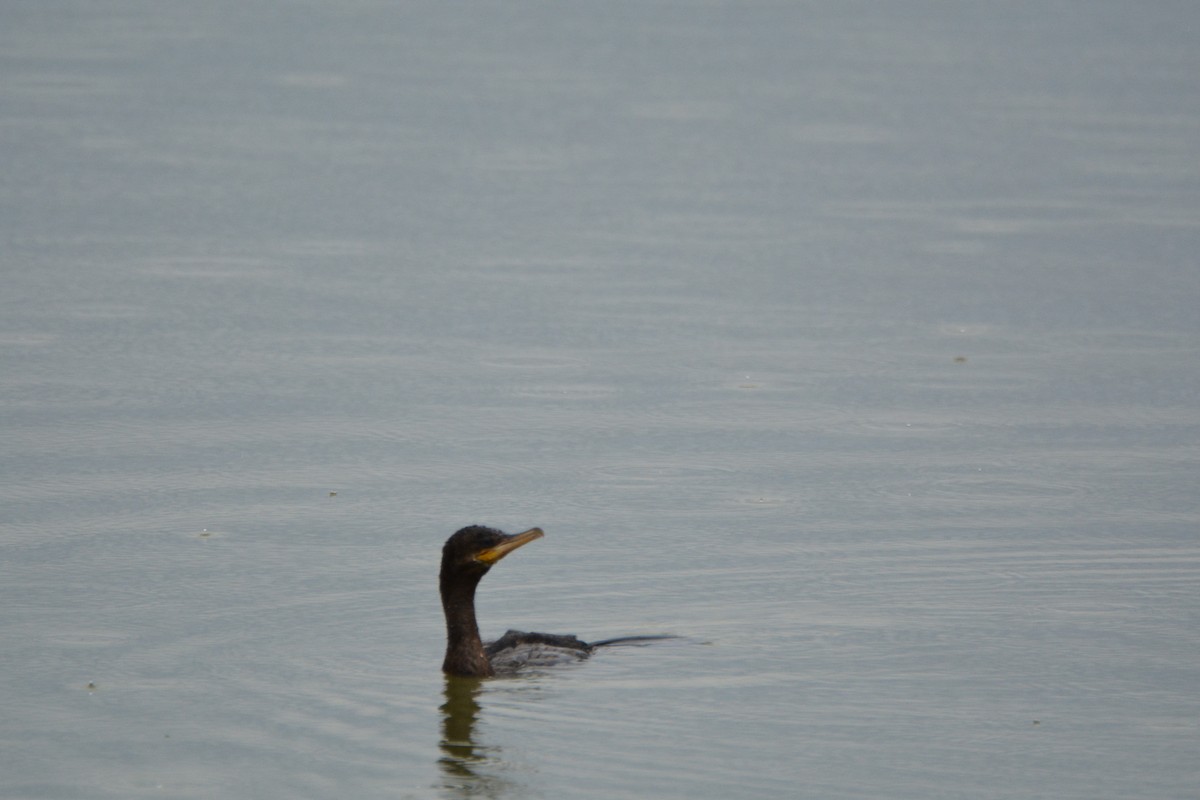
M 496 528 L 470 525 L 446 540 L 442 548 L 442 610 L 446 616 L 446 656 L 442 672 L 467 678 L 491 678 L 522 667 L 546 667 L 582 661 L 596 648 L 634 643 L 662 636 L 631 636 L 588 644 L 574 636 L 509 631 L 484 644 L 475 621 L 475 588 L 502 558 L 545 536 L 541 528 L 505 534 Z

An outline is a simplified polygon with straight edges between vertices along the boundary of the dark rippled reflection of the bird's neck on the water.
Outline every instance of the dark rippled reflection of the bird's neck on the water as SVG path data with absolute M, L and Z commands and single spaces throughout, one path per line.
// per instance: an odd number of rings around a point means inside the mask
M 443 775 L 442 787 L 450 798 L 500 798 L 512 795 L 516 788 L 486 771 L 488 765 L 498 765 L 498 748 L 475 744 L 478 698 L 482 688 L 484 681 L 479 678 L 445 678 L 438 766 Z

